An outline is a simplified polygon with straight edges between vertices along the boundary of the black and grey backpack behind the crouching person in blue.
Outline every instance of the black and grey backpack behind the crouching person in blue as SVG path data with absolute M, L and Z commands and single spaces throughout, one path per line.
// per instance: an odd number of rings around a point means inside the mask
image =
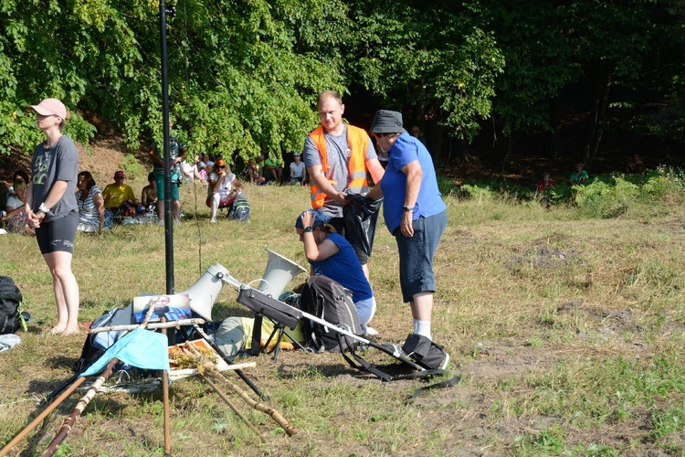
M 344 328 L 354 335 L 362 335 L 362 325 L 352 301 L 352 291 L 322 274 L 310 276 L 300 294 L 302 311 L 313 314 L 324 321 Z M 349 351 L 359 342 L 342 335 L 328 326 L 305 321 L 307 343 L 317 349 Z

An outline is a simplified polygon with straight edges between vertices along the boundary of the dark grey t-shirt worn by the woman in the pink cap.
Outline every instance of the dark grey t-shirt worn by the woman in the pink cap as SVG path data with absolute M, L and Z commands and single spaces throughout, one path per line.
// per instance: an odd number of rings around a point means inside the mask
M 45 142 L 34 149 L 31 158 L 31 209 L 36 212 L 45 202 L 56 181 L 67 181 L 67 190 L 58 203 L 50 208 L 46 222 L 64 218 L 71 211 L 79 212 L 76 204 L 76 182 L 79 177 L 79 151 L 67 135 L 59 137 L 58 142 L 46 148 Z

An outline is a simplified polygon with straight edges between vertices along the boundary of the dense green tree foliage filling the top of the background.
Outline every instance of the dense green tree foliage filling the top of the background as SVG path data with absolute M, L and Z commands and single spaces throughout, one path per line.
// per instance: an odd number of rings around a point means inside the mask
M 490 118 L 496 137 L 546 131 L 563 154 L 573 112 L 586 121 L 585 160 L 607 129 L 685 141 L 682 0 L 172 5 L 171 112 L 194 153 L 298 150 L 326 89 L 404 112 L 438 158 L 445 139 L 469 142 Z M 30 151 L 39 132 L 26 105 L 48 96 L 96 125 L 111 120 L 131 149 L 160 142 L 159 49 L 153 0 L 3 0 L 0 154 Z M 83 117 L 68 133 L 88 142 Z

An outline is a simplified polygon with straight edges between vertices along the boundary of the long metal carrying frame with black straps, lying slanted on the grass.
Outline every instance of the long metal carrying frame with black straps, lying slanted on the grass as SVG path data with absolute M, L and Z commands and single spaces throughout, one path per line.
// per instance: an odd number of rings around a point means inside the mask
M 305 313 L 290 304 L 280 302 L 269 295 L 253 289 L 251 287 L 242 284 L 239 288 L 237 303 L 244 304 L 250 310 L 254 311 L 257 315 L 266 316 L 271 319 L 274 323 L 279 323 L 281 325 L 287 326 L 290 329 L 294 329 L 300 320 L 308 319 L 312 323 L 317 323 L 328 327 L 329 330 L 336 332 L 339 339 L 343 336 L 348 339 L 356 340 L 362 345 L 367 345 L 374 347 L 388 356 L 392 356 L 395 360 L 399 361 L 402 366 L 411 368 L 414 370 L 412 373 L 407 375 L 391 376 L 385 373 L 378 367 L 374 367 L 370 363 L 364 360 L 361 356 L 356 354 L 354 349 L 350 350 L 350 355 L 348 356 L 345 352 L 341 351 L 342 356 L 350 364 L 351 367 L 362 369 L 372 373 L 376 377 L 380 377 L 384 381 L 396 381 L 400 379 L 412 379 L 415 377 L 426 377 L 426 376 L 439 376 L 445 372 L 445 367 L 447 367 L 449 362 L 449 356 L 445 353 L 445 359 L 443 363 L 438 368 L 427 369 L 421 367 L 413 360 L 408 358 L 406 354 L 402 352 L 396 345 L 385 344 L 379 345 L 374 341 L 364 338 L 364 336 L 354 335 L 348 329 L 336 326 L 334 324 L 328 323 L 325 320 L 309 313 Z M 258 344 L 258 343 L 257 343 Z M 353 345 L 351 345 L 352 347 Z M 254 342 L 253 342 L 254 347 Z M 342 347 L 342 345 L 341 345 Z

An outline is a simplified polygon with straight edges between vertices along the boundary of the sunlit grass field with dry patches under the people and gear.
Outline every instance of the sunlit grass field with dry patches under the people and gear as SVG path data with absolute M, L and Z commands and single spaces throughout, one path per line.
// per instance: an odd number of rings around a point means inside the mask
M 266 267 L 265 248 L 306 266 L 293 226 L 307 207 L 307 189 L 248 186 L 252 213 L 245 224 L 210 224 L 205 188 L 196 195 L 193 186 L 182 190 L 186 217 L 174 228 L 176 291 L 214 263 L 239 281 L 256 280 Z M 383 383 L 348 367 L 340 355 L 284 352 L 277 362 L 262 355 L 250 359 L 257 367 L 246 373 L 300 433 L 289 437 L 234 398 L 262 433 L 260 442 L 202 379 L 189 378 L 170 389 L 172 453 L 683 455 L 680 187 L 658 200 L 630 200 L 611 218 L 586 207 L 455 196 L 446 196 L 448 229 L 435 260 L 433 335 L 451 356 L 444 378 L 462 377 L 456 387 L 408 400 L 426 383 Z M 398 343 L 409 333 L 411 315 L 399 292 L 395 240 L 382 224 L 369 264 L 378 301 L 371 324 L 380 341 Z M 6 443 L 42 410 L 37 400 L 71 376 L 85 334 L 47 335 L 56 309 L 35 239 L 2 236 L 0 250 L 0 272 L 14 278 L 24 309 L 40 322 L 19 332 L 21 345 L 0 354 L 0 443 Z M 79 234 L 73 269 L 80 321 L 139 293 L 164 292 L 164 267 L 162 227 Z M 224 287 L 216 320 L 248 315 L 236 296 Z M 368 356 L 383 358 L 374 350 Z M 43 452 L 82 394 L 65 400 L 10 455 Z M 98 394 L 60 452 L 163 455 L 161 389 Z

